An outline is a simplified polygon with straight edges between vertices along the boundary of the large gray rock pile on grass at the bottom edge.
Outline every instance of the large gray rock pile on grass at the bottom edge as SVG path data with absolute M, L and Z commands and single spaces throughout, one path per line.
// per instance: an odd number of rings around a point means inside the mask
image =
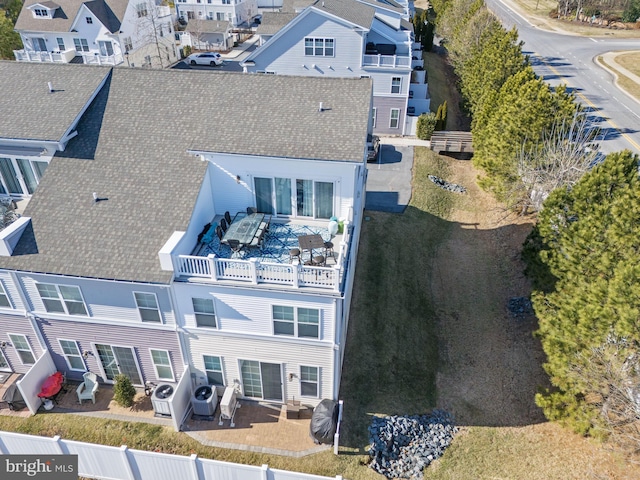
M 430 415 L 373 417 L 369 426 L 369 466 L 387 478 L 422 478 L 442 456 L 457 428 L 442 410 Z

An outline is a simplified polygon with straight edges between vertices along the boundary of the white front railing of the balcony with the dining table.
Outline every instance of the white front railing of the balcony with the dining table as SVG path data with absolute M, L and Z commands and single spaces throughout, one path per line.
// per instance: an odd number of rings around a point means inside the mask
M 314 287 L 340 291 L 341 268 L 312 267 L 281 263 L 262 263 L 257 259 L 218 258 L 215 255 L 173 257 L 177 277 L 206 278 L 214 282 L 232 281 L 258 284 L 288 285 L 293 288 Z

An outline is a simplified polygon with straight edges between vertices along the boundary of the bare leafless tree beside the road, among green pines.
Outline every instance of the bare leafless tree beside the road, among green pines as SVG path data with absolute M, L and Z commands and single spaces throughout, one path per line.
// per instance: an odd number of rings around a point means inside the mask
M 574 185 L 602 156 L 599 135 L 589 117 L 577 112 L 571 123 L 553 125 L 528 151 L 524 142 L 517 158 L 521 181 L 510 192 L 509 206 L 520 205 L 523 213 L 529 208 L 538 211 L 553 190 Z

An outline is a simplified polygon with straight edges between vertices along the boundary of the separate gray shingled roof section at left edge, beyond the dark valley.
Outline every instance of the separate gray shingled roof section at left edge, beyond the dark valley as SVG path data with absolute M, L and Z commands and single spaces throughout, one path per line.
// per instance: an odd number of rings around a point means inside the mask
M 108 73 L 89 65 L 0 61 L 0 138 L 60 141 Z

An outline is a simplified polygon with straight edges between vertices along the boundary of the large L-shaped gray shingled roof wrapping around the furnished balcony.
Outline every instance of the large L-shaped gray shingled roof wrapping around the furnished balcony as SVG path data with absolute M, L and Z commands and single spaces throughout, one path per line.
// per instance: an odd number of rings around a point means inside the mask
M 158 251 L 187 227 L 207 167 L 188 149 L 362 162 L 371 91 L 370 79 L 116 68 L 0 268 L 168 283 Z

